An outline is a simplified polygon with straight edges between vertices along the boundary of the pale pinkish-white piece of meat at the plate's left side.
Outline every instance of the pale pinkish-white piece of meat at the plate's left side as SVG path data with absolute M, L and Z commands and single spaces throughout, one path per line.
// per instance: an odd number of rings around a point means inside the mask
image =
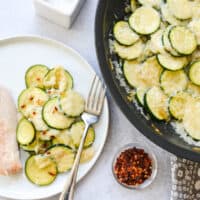
M 9 91 L 0 86 L 0 175 L 22 168 L 16 141 L 17 109 Z

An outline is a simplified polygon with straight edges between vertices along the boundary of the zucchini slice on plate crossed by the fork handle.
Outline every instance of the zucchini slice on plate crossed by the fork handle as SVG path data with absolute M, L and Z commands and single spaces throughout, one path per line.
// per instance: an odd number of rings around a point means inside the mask
M 70 129 L 70 135 L 73 141 L 73 144 L 76 148 L 79 147 L 82 134 L 85 129 L 85 123 L 83 121 L 76 122 L 72 125 Z M 85 139 L 84 148 L 91 146 L 95 140 L 95 131 L 93 127 L 90 127 Z

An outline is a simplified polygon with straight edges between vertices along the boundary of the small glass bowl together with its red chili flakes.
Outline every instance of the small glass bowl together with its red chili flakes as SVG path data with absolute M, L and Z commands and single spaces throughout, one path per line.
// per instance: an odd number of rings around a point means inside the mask
M 142 189 L 154 180 L 157 173 L 157 161 L 154 154 L 147 148 L 139 144 L 128 144 L 115 157 L 113 173 L 123 186 Z

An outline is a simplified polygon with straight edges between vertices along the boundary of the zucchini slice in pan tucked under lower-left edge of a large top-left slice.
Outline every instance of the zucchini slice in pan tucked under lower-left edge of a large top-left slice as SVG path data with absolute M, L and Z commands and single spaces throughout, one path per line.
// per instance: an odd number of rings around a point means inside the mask
M 114 25 L 113 33 L 115 39 L 122 45 L 130 46 L 139 40 L 138 34 L 129 27 L 126 21 L 117 22 Z

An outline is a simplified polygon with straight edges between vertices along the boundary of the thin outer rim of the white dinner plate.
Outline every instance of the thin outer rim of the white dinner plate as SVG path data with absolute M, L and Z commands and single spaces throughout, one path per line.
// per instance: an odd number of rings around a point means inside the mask
M 36 41 L 42 41 L 42 42 L 45 42 L 45 43 L 51 43 L 54 46 L 59 46 L 59 47 L 62 47 L 64 50 L 68 50 L 68 51 L 72 52 L 76 57 L 78 57 L 82 62 L 85 63 L 85 65 L 87 66 L 88 70 L 90 70 L 91 73 L 97 75 L 97 73 L 93 69 L 92 65 L 90 65 L 89 62 L 77 50 L 75 50 L 72 47 L 64 44 L 61 41 L 58 41 L 56 39 L 52 39 L 50 37 L 44 37 L 44 36 L 40 36 L 40 35 L 37 35 L 37 34 L 25 34 L 25 35 L 14 35 L 14 36 L 8 36 L 8 37 L 1 37 L 0 38 L 0 48 L 1 48 L 2 44 L 6 43 L 6 42 L 13 42 L 13 41 L 16 42 L 18 40 L 26 41 L 26 40 L 31 40 L 31 39 L 34 39 Z M 110 108 L 109 108 L 108 96 L 107 95 L 105 97 L 104 107 L 106 107 L 105 109 L 106 109 L 106 112 L 108 113 L 107 114 L 108 119 L 107 119 L 107 123 L 106 123 L 106 133 L 105 133 L 104 140 L 101 143 L 101 145 L 99 146 L 99 151 L 96 152 L 96 158 L 93 160 L 93 162 L 94 162 L 93 165 L 88 168 L 87 172 L 82 177 L 80 177 L 79 180 L 77 180 L 77 183 L 82 181 L 91 172 L 93 167 L 97 164 L 97 161 L 100 159 L 102 152 L 103 152 L 103 149 L 105 147 L 107 137 L 108 137 L 109 127 L 110 127 Z M 62 189 L 61 189 L 61 191 L 62 191 Z M 27 198 L 27 196 L 16 198 L 16 196 L 13 197 L 14 195 L 18 195 L 16 193 L 13 194 L 13 195 L 10 195 L 10 193 L 3 192 L 3 193 L 0 193 L 0 197 L 10 198 L 10 199 L 20 199 L 20 200 L 29 200 L 29 199 L 30 200 L 37 200 L 37 199 L 45 199 L 45 198 L 53 197 L 55 195 L 58 195 L 61 191 L 51 193 L 51 194 L 47 194 L 47 195 L 43 195 L 41 197 L 39 197 L 39 196 L 34 197 L 34 195 L 32 195 L 33 197 L 29 197 L 29 198 Z

